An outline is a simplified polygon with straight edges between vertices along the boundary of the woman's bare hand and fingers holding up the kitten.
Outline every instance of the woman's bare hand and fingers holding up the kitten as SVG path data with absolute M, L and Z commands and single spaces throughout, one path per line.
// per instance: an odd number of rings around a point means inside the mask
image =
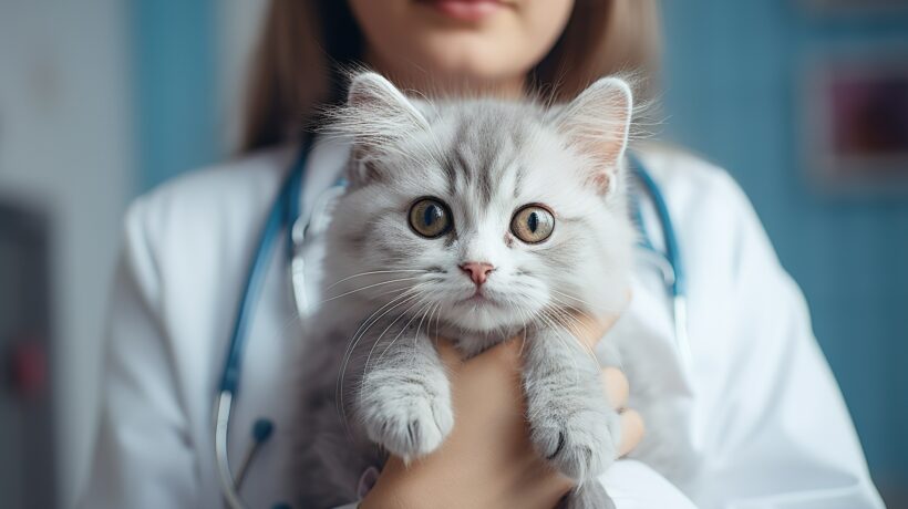
M 615 320 L 581 320 L 575 331 L 592 347 Z M 550 509 L 570 490 L 570 480 L 551 469 L 529 443 L 520 387 L 522 341 L 512 340 L 483 354 L 461 361 L 457 352 L 440 342 L 448 366 L 456 420 L 442 447 L 405 466 L 392 457 L 363 509 L 499 508 Z M 621 411 L 628 399 L 628 381 L 616 368 L 602 371 L 608 397 Z M 643 420 L 634 411 L 621 413 L 620 455 L 633 449 L 643 436 Z

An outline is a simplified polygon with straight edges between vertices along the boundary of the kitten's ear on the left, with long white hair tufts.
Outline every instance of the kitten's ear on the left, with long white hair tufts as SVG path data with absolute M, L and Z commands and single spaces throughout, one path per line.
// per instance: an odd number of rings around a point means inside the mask
M 341 125 L 352 135 L 350 177 L 365 183 L 381 178 L 376 159 L 394 149 L 396 142 L 429 128 L 429 122 L 406 96 L 384 76 L 367 72 L 350 83 L 345 118 Z

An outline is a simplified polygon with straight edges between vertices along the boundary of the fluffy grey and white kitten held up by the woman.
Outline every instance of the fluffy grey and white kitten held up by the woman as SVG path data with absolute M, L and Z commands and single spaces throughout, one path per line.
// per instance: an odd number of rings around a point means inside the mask
M 616 456 L 618 418 L 570 325 L 626 298 L 630 87 L 602 79 L 547 108 L 416 101 L 365 73 L 333 116 L 353 149 L 310 322 L 302 506 L 355 500 L 385 451 L 409 460 L 444 442 L 455 416 L 436 334 L 464 356 L 526 334 L 532 442 L 578 482 L 567 507 L 608 507 L 594 479 Z

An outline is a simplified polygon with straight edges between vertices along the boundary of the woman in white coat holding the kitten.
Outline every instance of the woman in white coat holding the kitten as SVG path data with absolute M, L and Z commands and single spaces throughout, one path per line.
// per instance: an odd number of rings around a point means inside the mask
M 425 94 L 443 84 L 441 92 L 515 98 L 537 89 L 567 101 L 599 75 L 651 72 L 654 18 L 654 2 L 644 0 L 275 0 L 252 73 L 244 157 L 162 186 L 127 214 L 84 506 L 221 503 L 211 403 L 235 308 L 302 127 L 318 124 L 319 107 L 343 96 L 338 69 L 362 63 Z M 316 144 L 305 207 L 331 186 L 345 150 Z M 629 308 L 586 340 L 595 343 L 607 330 L 632 337 L 637 346 L 620 353 L 665 373 L 656 384 L 627 363 L 628 396 L 627 378 L 603 372 L 603 397 L 616 408 L 659 394 L 659 405 L 622 412 L 620 449 L 638 446 L 641 414 L 669 418 L 677 422 L 670 446 L 643 440 L 637 450 L 684 461 L 661 461 L 658 472 L 618 461 L 602 479 L 617 506 L 880 507 L 803 298 L 746 198 L 723 172 L 683 153 L 638 153 L 684 250 L 691 354 L 682 364 L 664 282 L 640 263 Z M 660 224 L 646 207 L 644 227 L 661 249 Z M 311 301 L 323 256 L 320 219 L 305 247 Z M 292 496 L 292 479 L 278 466 L 292 454 L 291 353 L 306 342 L 298 341 L 285 269 L 286 260 L 272 260 L 257 302 L 233 419 L 231 458 L 248 454 L 244 432 L 259 416 L 276 425 L 245 472 L 240 492 L 250 507 Z M 528 446 L 517 349 L 499 346 L 466 363 L 448 352 L 447 360 L 461 395 L 452 436 L 409 468 L 392 458 L 363 489 L 361 507 L 553 507 L 570 486 L 541 468 Z

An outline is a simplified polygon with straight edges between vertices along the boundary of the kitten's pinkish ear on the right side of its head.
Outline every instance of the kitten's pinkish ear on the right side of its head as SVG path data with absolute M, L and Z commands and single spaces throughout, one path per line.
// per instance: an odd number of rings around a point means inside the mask
M 615 187 L 632 116 L 630 86 L 623 80 L 603 77 L 556 117 L 556 126 L 568 144 L 592 162 L 590 181 L 601 195 Z

